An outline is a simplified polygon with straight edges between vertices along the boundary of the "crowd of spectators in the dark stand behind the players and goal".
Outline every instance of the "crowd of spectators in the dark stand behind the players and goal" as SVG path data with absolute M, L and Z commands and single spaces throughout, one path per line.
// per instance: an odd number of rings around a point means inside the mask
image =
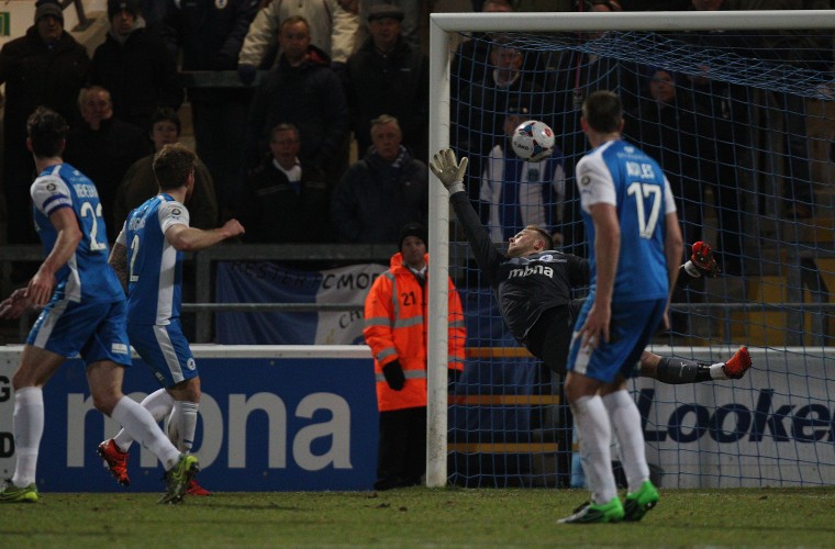
M 245 242 L 397 242 L 402 222 L 423 222 L 426 215 L 428 60 L 424 53 L 427 44 L 422 38 L 436 3 L 441 2 L 108 0 L 109 31 L 90 58 L 64 29 L 58 2 L 38 0 L 34 24 L 24 36 L 10 41 L 0 51 L 0 81 L 5 83 L 3 242 L 36 242 L 31 213 L 19 205 L 29 200 L 33 172 L 25 149 L 25 119 L 41 104 L 55 109 L 70 122 L 67 161 L 96 181 L 111 242 L 119 231 L 118 220 L 126 215 L 124 204 L 116 203 L 120 186 L 130 184 L 138 169 L 136 163 L 147 165 L 147 155 L 158 147 L 153 126 L 159 120 L 158 110 L 176 112 L 183 105 L 189 108 L 196 152 L 205 168 L 201 169 L 201 187 L 214 192 L 214 200 L 203 197 L 201 203 L 205 205 L 198 205 L 193 212 L 204 220 L 203 225 L 260 216 L 263 221 L 247 231 Z M 467 2 L 459 3 L 470 8 Z M 471 2 L 471 10 L 832 8 L 831 0 L 801 3 L 802 7 L 779 0 L 485 0 Z M 600 35 L 589 34 L 583 40 L 595 36 Z M 795 66 L 827 68 L 832 61 L 831 41 L 814 42 L 813 36 L 788 32 L 743 41 L 716 33 L 684 33 L 680 37 L 746 55 L 769 52 L 773 60 Z M 559 160 L 559 179 L 548 176 L 543 180 L 547 183 L 542 186 L 543 192 L 556 202 L 545 216 L 549 220 L 547 228 L 567 246 L 583 242 L 570 181 L 586 144 L 575 131 L 579 121 L 571 105 L 578 97 L 595 89 L 613 89 L 631 116 L 627 137 L 657 152 L 654 154 L 673 177 L 686 240 L 700 238 L 701 203 L 705 191 L 715 189 L 714 200 L 721 211 L 715 245 L 725 253 L 725 272 L 741 274 L 743 236 L 738 211 L 756 184 L 750 181 L 752 170 L 745 168 L 750 159 L 741 154 L 755 138 L 745 109 L 747 90 L 677 74 L 669 67 L 593 57 L 576 49 L 549 55 L 525 53 L 505 44 L 499 35 L 478 33 L 458 45 L 453 61 L 452 141 L 456 152 L 474 163 L 470 177 L 479 181 L 469 184 L 468 190 L 479 204 L 482 221 L 501 219 L 508 223 L 497 227 L 497 234 L 515 234 L 522 228 L 516 225 L 525 217 L 524 212 L 497 213 L 494 204 L 485 199 L 494 192 L 494 182 L 487 175 L 488 159 L 497 146 L 513 156 L 509 147 L 503 147 L 505 116 L 515 113 L 542 117 L 553 127 L 572 128 L 558 132 L 558 148 L 564 156 Z M 178 77 L 178 71 L 236 71 L 240 85 L 230 88 L 192 82 L 186 88 L 186 79 Z M 55 85 L 56 80 L 60 86 Z M 775 116 L 788 128 L 790 176 L 782 190 L 781 213 L 786 219 L 808 217 L 813 213 L 814 198 L 802 104 L 788 93 L 777 94 L 775 102 L 776 109 L 790 113 Z M 725 116 L 728 112 L 730 116 Z M 386 137 L 392 143 L 391 154 L 383 153 L 388 145 L 375 138 L 375 127 L 379 127 L 375 122 L 379 120 L 391 124 Z M 700 130 L 717 121 L 726 126 Z M 276 133 L 279 126 L 289 127 L 287 131 L 294 136 Z M 725 130 L 734 134 L 731 147 L 715 137 Z M 689 138 L 697 134 L 700 139 Z M 277 142 L 277 136 L 282 141 Z M 287 158 L 281 161 L 277 148 L 285 142 L 290 145 L 292 158 L 285 152 Z M 352 144 L 356 144 L 354 153 Z M 700 166 L 692 166 L 694 147 L 700 149 Z M 527 176 L 515 177 L 511 166 L 506 164 L 504 179 L 526 181 Z M 567 182 L 560 182 L 563 177 Z M 519 187 L 503 186 L 501 199 L 523 209 L 523 201 L 530 198 L 522 197 Z M 377 200 L 369 200 L 374 195 Z M 133 197 L 134 203 L 141 198 Z M 288 215 L 297 212 L 294 220 L 303 212 L 308 224 L 316 229 L 299 231 L 298 223 L 269 222 L 263 213 L 256 213 L 259 206 L 263 210 L 265 204 L 278 202 Z M 423 212 L 419 213 L 420 209 Z M 114 215 L 114 210 L 120 213 Z

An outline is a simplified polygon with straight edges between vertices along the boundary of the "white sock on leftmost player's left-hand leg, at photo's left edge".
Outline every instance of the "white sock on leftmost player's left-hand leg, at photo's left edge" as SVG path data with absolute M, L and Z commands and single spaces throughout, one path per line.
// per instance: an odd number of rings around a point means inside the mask
M 14 468 L 12 484 L 24 488 L 35 482 L 37 450 L 44 434 L 44 392 L 40 386 L 24 386 L 14 392 Z

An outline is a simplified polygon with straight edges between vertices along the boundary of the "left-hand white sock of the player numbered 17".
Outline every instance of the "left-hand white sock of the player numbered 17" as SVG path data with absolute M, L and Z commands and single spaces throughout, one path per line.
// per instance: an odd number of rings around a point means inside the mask
M 598 395 L 581 396 L 571 403 L 571 412 L 580 439 L 580 461 L 591 498 L 598 504 L 609 503 L 617 495 L 617 486 L 609 448 L 612 430 L 603 400 Z

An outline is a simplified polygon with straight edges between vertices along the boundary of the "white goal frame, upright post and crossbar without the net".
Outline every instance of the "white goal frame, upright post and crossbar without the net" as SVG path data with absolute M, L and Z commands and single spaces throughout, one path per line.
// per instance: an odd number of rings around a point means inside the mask
M 430 15 L 430 156 L 449 146 L 450 33 L 811 29 L 835 29 L 835 10 L 433 13 Z M 426 485 L 438 488 L 447 483 L 449 202 L 447 191 L 436 181 L 430 182 L 428 204 L 430 295 L 443 299 L 428 302 Z

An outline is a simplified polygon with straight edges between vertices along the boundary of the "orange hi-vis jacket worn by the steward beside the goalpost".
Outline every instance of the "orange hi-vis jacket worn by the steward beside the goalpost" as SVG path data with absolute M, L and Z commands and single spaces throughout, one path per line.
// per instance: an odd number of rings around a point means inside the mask
M 428 256 L 426 256 L 428 261 Z M 449 280 L 449 368 L 464 369 L 467 329 L 461 299 Z M 366 343 L 374 356 L 377 380 L 377 407 L 380 412 L 426 405 L 426 322 L 428 281 L 421 287 L 415 274 L 403 265 L 400 253 L 391 257 L 391 268 L 371 285 L 365 301 Z M 400 361 L 405 376 L 401 391 L 386 382 L 382 367 Z

